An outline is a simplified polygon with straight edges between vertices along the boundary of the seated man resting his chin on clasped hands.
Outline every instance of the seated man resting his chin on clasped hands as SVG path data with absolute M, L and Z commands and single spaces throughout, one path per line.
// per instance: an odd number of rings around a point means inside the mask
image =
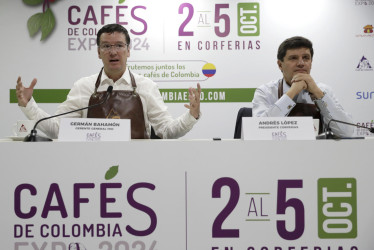
M 332 89 L 316 83 L 310 75 L 313 46 L 308 39 L 286 39 L 278 48 L 277 58 L 283 79 L 257 88 L 252 101 L 253 116 L 313 116 L 320 119 L 321 129 L 331 119 L 352 123 Z M 354 131 L 353 126 L 336 122 L 331 122 L 330 128 L 337 136 L 352 136 Z

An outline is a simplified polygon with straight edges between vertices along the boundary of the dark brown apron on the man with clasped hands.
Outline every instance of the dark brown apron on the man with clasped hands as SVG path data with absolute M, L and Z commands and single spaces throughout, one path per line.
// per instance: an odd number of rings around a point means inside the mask
M 283 96 L 283 79 L 278 81 L 278 99 Z M 319 131 L 322 133 L 322 116 L 316 105 L 311 103 L 296 103 L 288 116 L 312 116 L 313 119 L 319 119 Z

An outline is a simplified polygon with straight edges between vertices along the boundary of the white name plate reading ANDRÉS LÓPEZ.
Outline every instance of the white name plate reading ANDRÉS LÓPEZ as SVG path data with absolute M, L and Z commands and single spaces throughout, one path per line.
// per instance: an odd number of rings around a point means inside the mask
M 243 117 L 244 140 L 315 140 L 312 117 Z

